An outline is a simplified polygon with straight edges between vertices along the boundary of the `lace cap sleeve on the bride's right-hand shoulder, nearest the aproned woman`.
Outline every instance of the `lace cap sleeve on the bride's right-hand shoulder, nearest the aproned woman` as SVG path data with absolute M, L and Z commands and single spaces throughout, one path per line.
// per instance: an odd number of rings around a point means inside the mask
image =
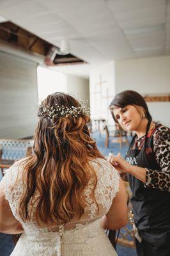
M 95 188 L 95 199 L 97 204 L 102 205 L 107 213 L 111 207 L 112 200 L 119 190 L 120 175 L 116 169 L 105 159 L 97 159 L 93 162 L 93 166 L 97 172 L 97 186 Z M 89 212 L 90 218 L 97 213 L 97 205 L 94 204 L 91 197 L 91 188 L 86 189 L 86 200 L 89 205 L 86 211 Z

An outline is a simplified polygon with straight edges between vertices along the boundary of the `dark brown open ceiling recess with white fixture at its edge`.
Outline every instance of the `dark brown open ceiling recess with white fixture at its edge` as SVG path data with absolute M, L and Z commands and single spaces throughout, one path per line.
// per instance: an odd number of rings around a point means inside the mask
M 44 56 L 45 64 L 48 66 L 86 63 L 70 54 L 70 44 L 67 40 L 61 40 L 58 47 L 12 22 L 5 21 L 0 24 L 0 40 L 23 51 Z

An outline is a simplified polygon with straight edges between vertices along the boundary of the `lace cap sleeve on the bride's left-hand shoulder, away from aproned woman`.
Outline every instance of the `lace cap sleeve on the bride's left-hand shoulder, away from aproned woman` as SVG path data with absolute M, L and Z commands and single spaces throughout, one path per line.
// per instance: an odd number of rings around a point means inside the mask
M 4 194 L 6 200 L 10 204 L 13 216 L 17 218 L 17 205 L 19 203 L 19 198 L 22 193 L 22 179 L 20 168 L 22 168 L 21 161 L 13 164 L 4 175 Z M 18 219 L 18 218 L 17 218 Z

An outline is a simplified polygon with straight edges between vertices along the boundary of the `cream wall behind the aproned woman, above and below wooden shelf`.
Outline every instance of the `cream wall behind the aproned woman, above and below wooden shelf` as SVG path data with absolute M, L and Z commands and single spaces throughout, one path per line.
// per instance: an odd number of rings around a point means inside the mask
M 116 93 L 170 93 L 170 56 L 115 61 Z M 153 120 L 170 125 L 170 102 L 148 102 Z

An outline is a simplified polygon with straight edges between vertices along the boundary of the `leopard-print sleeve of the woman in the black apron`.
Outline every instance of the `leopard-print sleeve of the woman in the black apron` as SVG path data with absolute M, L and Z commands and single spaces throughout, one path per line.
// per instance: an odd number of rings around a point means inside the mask
M 153 134 L 153 151 L 162 172 L 146 169 L 145 186 L 170 192 L 170 129 L 161 125 Z

